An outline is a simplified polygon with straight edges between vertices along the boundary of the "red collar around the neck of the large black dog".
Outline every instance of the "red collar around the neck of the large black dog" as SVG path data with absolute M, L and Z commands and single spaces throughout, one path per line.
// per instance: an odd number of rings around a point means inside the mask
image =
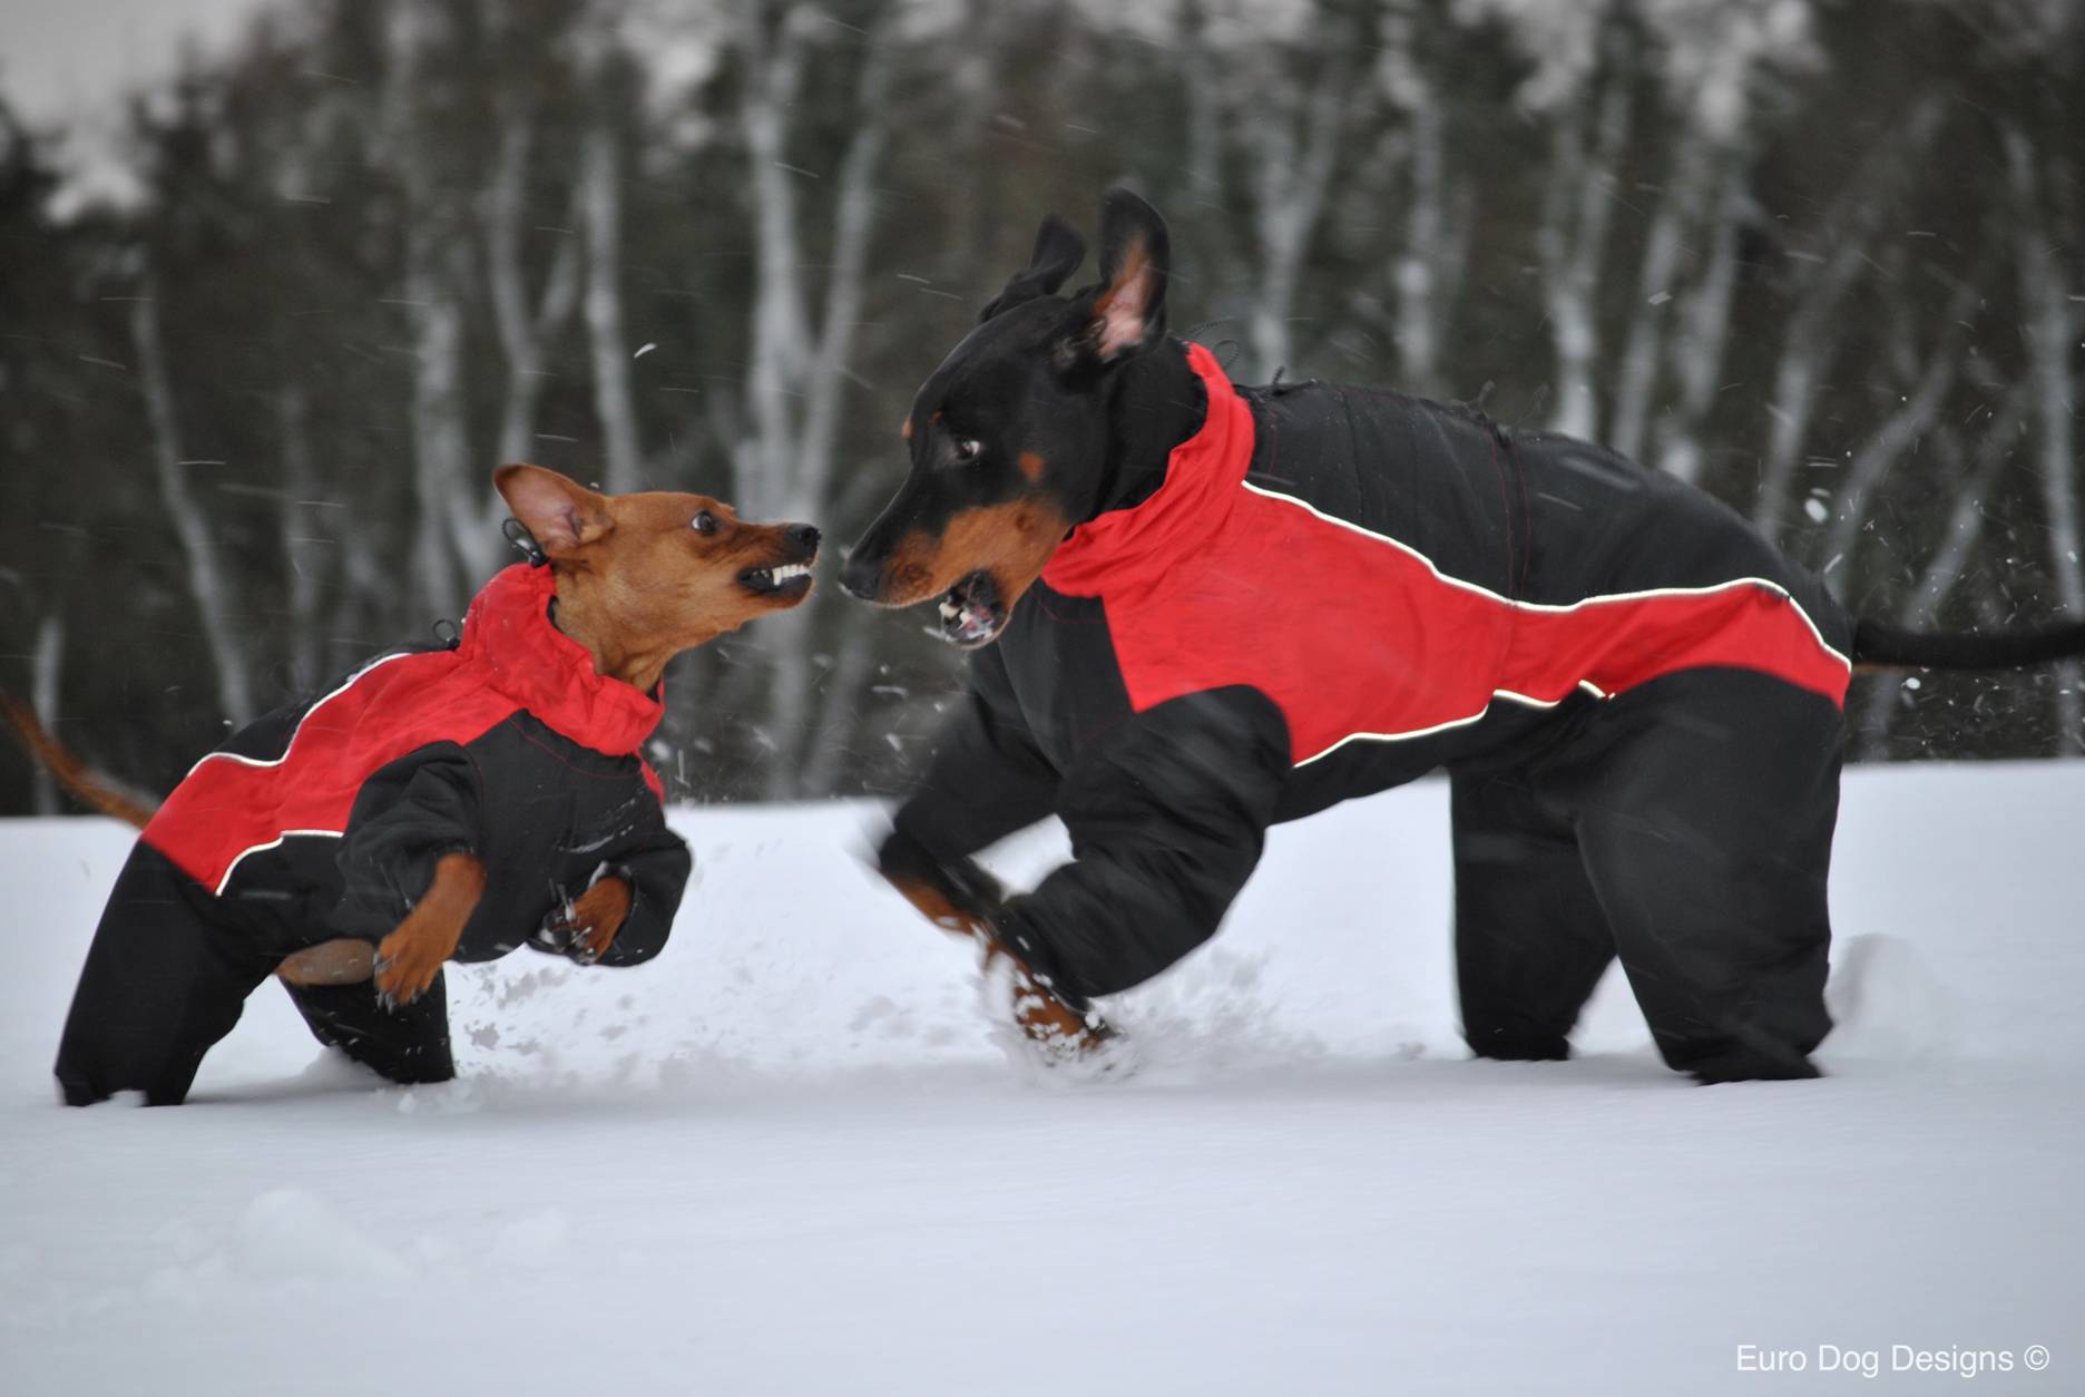
M 1111 509 L 1072 530 L 1057 544 L 1042 582 L 1065 596 L 1097 596 L 1107 588 L 1159 582 L 1172 559 L 1195 548 L 1222 523 L 1253 461 L 1253 409 L 1230 386 L 1201 344 L 1186 346 L 1209 409 L 1201 427 L 1172 448 L 1166 482 L 1140 505 Z

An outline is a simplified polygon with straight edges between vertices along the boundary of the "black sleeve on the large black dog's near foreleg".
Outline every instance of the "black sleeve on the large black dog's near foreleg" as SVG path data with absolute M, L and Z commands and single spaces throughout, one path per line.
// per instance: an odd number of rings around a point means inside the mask
M 1072 863 L 1009 899 L 999 934 L 1078 997 L 1149 980 L 1216 934 L 1286 774 L 1289 726 L 1259 690 L 1138 713 L 1065 776 Z

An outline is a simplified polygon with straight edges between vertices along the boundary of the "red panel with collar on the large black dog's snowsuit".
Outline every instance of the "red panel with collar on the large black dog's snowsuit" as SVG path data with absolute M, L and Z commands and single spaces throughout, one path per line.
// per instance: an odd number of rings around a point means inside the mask
M 1289 721 L 1301 765 L 1351 740 L 1549 707 L 1708 665 L 1758 669 L 1845 703 L 1849 665 L 1772 582 L 1516 603 L 1445 578 L 1403 542 L 1247 484 L 1253 413 L 1191 346 L 1209 415 L 1136 509 L 1080 525 L 1045 582 L 1099 596 L 1136 711 L 1245 684 Z

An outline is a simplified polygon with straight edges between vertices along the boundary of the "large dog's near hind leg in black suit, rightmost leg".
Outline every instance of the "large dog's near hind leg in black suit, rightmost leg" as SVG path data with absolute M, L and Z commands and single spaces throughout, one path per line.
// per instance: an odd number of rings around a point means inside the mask
M 1612 698 L 1585 734 L 1587 872 L 1658 1051 L 1695 1080 L 1818 1074 L 1843 730 L 1826 698 L 1697 669 Z

